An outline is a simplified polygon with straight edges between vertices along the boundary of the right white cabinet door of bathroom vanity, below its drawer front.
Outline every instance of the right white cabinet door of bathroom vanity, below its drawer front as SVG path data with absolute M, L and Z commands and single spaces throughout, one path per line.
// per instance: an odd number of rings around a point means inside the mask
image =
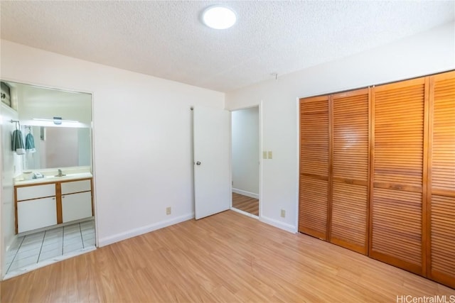
M 92 192 L 62 196 L 63 223 L 92 216 Z

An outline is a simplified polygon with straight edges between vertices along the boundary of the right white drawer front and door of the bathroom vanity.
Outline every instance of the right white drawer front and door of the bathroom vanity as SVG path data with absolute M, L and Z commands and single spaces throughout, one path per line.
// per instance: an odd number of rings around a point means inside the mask
M 92 216 L 92 184 L 90 180 L 62 182 L 63 223 Z

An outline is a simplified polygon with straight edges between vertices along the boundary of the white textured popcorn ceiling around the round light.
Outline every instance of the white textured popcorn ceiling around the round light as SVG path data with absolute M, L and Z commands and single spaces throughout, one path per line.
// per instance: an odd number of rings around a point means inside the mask
M 200 23 L 227 4 L 228 30 Z M 221 92 L 454 21 L 455 1 L 4 1 L 1 38 Z

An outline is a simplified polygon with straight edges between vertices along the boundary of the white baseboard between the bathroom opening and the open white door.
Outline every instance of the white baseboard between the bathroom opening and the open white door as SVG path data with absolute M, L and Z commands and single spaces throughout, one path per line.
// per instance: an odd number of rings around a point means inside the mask
M 133 238 L 135 236 L 140 236 L 140 235 L 142 235 L 144 233 L 149 233 L 151 231 L 156 231 L 157 229 L 164 228 L 164 227 L 167 227 L 167 226 L 171 226 L 173 224 L 178 224 L 178 223 L 181 223 L 183 221 L 188 221 L 188 220 L 193 219 L 193 218 L 194 218 L 194 213 L 186 214 L 186 215 L 183 215 L 183 216 L 177 216 L 177 217 L 169 219 L 169 220 L 160 221 L 160 222 L 157 222 L 155 224 L 148 225 L 148 226 L 142 226 L 142 227 L 139 227 L 139 228 L 134 228 L 134 229 L 132 229 L 130 231 L 125 231 L 123 233 L 117 233 L 117 234 L 112 235 L 112 236 L 107 236 L 105 238 L 100 238 L 100 239 L 98 239 L 98 247 L 107 246 L 109 244 L 116 243 L 116 242 L 119 242 L 119 241 L 122 241 L 122 240 L 126 240 L 128 238 Z

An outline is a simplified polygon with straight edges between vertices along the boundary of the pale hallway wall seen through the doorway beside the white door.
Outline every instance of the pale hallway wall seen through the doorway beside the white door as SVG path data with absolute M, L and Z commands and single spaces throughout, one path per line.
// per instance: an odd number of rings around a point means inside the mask
M 259 198 L 259 107 L 232 111 L 232 192 Z

